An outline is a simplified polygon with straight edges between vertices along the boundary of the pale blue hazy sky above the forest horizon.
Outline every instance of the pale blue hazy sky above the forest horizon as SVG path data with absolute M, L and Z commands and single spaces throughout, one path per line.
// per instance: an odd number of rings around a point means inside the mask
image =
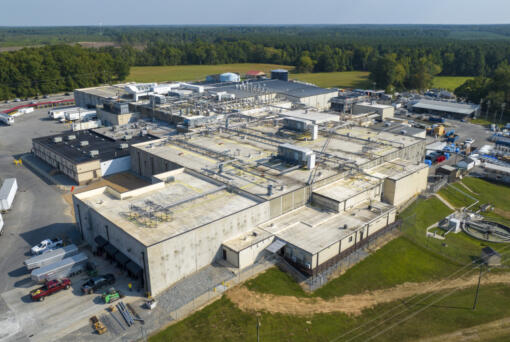
M 0 26 L 510 24 L 510 0 L 0 0 Z

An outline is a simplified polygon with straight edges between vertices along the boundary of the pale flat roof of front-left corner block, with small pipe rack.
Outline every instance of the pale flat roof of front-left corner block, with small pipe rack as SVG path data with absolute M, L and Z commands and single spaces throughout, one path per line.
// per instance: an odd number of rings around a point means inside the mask
M 189 171 L 171 172 L 173 181 L 123 193 L 126 199 L 118 198 L 107 187 L 75 196 L 145 246 L 259 203 Z

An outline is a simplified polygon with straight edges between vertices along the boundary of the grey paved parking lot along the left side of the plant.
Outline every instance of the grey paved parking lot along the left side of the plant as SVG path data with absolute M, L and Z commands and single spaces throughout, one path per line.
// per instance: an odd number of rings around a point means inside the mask
M 30 273 L 23 266 L 30 247 L 53 237 L 79 243 L 79 235 L 70 206 L 63 198 L 65 193 L 26 166 L 14 165 L 13 160 L 31 150 L 32 138 L 67 129 L 69 125 L 48 120 L 47 109 L 17 117 L 13 126 L 0 125 L 0 182 L 15 177 L 19 187 L 12 209 L 3 215 L 4 234 L 0 236 L 1 341 L 58 340 L 76 329 L 90 327 L 89 318 L 105 312 L 106 305 L 101 304 L 98 295 L 80 293 L 80 286 L 88 277 L 86 274 L 71 278 L 70 290 L 62 290 L 44 302 L 32 302 L 28 295 L 40 286 L 30 279 Z M 129 294 L 124 302 L 140 298 L 137 286 L 134 285 L 130 292 L 127 287 L 130 280 L 113 263 L 91 255 L 84 247 L 81 250 L 98 265 L 100 274 L 116 276 L 115 288 Z M 125 324 L 120 314 L 116 315 L 120 323 Z M 113 319 L 112 322 L 118 324 Z M 123 329 L 121 326 L 117 328 Z

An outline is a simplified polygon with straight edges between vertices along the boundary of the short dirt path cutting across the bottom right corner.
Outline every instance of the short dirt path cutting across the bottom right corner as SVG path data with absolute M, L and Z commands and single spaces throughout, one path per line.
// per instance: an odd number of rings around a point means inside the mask
M 492 338 L 510 336 L 510 317 L 498 319 L 452 333 L 421 339 L 418 342 L 465 342 L 487 341 Z

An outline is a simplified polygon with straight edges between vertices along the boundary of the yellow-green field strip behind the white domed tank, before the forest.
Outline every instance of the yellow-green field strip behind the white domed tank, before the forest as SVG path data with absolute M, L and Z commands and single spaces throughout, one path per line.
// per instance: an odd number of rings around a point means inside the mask
M 264 71 L 269 75 L 273 69 L 293 70 L 293 66 L 277 64 L 218 64 L 218 65 L 172 65 L 131 67 L 128 82 L 203 81 L 207 75 L 236 72 L 244 75 L 250 70 Z

